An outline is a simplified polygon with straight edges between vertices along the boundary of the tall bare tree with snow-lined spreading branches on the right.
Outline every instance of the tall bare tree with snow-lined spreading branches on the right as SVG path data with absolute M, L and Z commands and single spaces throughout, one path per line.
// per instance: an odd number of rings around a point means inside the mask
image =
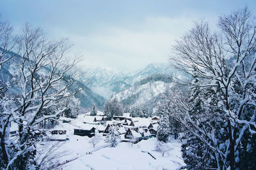
M 207 23 L 196 23 L 195 28 L 177 41 L 174 47 L 177 57 L 170 58 L 177 68 L 199 80 L 188 84 L 200 90 L 208 88 L 217 93 L 218 107 L 224 114 L 212 114 L 216 119 L 220 118 L 227 123 L 228 139 L 225 149 L 216 141 L 216 129 L 209 128 L 212 130 L 209 131 L 205 128 L 205 125 L 214 127 L 210 123 L 205 124 L 200 118 L 195 123 L 189 114 L 179 120 L 188 129 L 191 130 L 192 126 L 200 132 L 196 134 L 191 131 L 215 153 L 213 155 L 218 169 L 234 169 L 235 153 L 239 149 L 244 131 L 256 133 L 253 130 L 256 127 L 255 21 L 248 9 L 244 8 L 220 17 L 220 33 L 212 34 Z M 246 112 L 248 107 L 252 110 L 250 114 Z

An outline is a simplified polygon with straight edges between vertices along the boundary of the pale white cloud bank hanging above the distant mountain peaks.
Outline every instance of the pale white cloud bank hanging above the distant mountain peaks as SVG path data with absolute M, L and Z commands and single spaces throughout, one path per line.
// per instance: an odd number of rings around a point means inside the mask
M 148 17 L 127 27 L 100 27 L 90 35 L 68 35 L 74 50 L 83 54 L 81 65 L 135 70 L 148 63 L 168 62 L 175 39 L 193 25 L 193 19 Z M 67 35 L 66 35 L 67 36 Z

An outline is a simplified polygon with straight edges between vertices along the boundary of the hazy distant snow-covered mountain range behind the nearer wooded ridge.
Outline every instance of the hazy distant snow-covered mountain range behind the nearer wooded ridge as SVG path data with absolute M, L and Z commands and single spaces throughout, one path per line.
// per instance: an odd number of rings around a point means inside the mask
M 84 80 L 91 80 L 92 91 L 110 98 L 113 94 L 132 88 L 135 82 L 141 81 L 150 75 L 176 75 L 177 70 L 165 63 L 151 63 L 145 68 L 132 73 L 122 73 L 109 68 L 88 69 Z

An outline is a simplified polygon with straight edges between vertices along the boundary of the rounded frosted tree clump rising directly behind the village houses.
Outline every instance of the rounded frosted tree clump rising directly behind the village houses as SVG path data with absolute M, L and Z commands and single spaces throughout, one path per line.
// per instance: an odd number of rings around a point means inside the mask
M 108 120 L 111 120 L 114 115 L 122 116 L 123 105 L 116 99 L 109 99 L 104 105 L 104 115 L 107 116 Z

